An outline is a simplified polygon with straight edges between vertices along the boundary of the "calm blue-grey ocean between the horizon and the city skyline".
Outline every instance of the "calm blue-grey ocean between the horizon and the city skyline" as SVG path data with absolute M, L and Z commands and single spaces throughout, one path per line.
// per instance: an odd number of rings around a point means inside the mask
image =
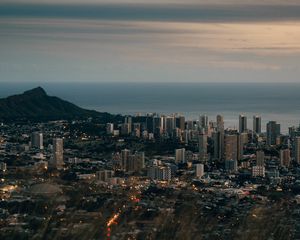
M 181 113 L 187 119 L 207 114 L 224 116 L 226 127 L 238 127 L 239 114 L 262 117 L 289 126 L 300 122 L 300 84 L 297 83 L 0 83 L 0 97 L 41 86 L 81 107 L 110 113 Z

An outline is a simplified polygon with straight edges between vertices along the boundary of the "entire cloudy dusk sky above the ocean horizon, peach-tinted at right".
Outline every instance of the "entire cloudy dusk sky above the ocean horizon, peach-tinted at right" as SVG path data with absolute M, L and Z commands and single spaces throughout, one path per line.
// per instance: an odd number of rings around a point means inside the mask
M 1 0 L 0 73 L 0 83 L 299 82 L 300 2 Z

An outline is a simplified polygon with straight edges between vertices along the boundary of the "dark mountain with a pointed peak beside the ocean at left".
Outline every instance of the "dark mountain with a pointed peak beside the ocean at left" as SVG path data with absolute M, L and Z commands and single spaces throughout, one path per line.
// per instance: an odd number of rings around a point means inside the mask
M 0 99 L 2 120 L 61 120 L 83 117 L 97 117 L 108 121 L 114 115 L 86 110 L 58 97 L 48 96 L 41 87 Z

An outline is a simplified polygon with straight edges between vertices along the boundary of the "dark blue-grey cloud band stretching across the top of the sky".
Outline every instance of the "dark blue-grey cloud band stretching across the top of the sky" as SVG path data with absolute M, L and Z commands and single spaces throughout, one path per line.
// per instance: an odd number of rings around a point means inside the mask
M 300 19 L 300 5 L 3 3 L 0 16 L 173 22 L 290 21 Z

